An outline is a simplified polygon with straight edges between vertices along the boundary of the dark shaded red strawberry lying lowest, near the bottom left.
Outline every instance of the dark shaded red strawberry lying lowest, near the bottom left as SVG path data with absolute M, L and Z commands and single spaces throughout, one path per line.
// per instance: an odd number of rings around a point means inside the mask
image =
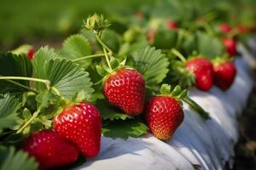
M 32 134 L 22 149 L 36 158 L 41 169 L 62 167 L 79 157 L 79 150 L 73 144 L 49 130 Z

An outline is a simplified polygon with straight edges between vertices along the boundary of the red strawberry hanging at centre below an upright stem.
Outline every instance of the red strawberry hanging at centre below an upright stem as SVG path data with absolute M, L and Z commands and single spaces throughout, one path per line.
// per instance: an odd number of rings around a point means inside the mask
M 136 70 L 121 68 L 104 82 L 104 94 L 110 104 L 131 116 L 137 116 L 144 108 L 144 78 Z

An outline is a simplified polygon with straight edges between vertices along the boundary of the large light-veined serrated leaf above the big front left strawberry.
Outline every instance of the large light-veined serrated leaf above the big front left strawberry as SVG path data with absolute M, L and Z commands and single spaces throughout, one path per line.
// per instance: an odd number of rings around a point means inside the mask
M 94 91 L 90 82 L 89 73 L 80 68 L 79 65 L 66 59 L 51 59 L 44 66 L 44 71 L 36 75 L 37 78 L 44 78 L 50 81 L 50 86 L 54 87 L 64 98 L 72 99 L 73 96 L 84 90 L 87 97 Z M 35 84 L 38 90 L 46 89 L 41 84 Z

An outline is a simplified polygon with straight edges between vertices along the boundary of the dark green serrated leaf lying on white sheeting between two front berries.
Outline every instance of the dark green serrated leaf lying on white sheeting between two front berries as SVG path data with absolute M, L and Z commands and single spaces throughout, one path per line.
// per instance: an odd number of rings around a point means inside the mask
M 138 118 L 135 120 L 114 121 L 102 127 L 102 133 L 106 137 L 113 139 L 128 139 L 140 137 L 148 133 L 148 127 Z

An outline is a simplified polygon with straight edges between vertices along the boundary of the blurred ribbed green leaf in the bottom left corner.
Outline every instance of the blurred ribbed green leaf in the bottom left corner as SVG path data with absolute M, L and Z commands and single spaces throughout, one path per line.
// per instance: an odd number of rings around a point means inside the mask
M 0 146 L 0 170 L 36 170 L 38 163 L 24 151 Z

